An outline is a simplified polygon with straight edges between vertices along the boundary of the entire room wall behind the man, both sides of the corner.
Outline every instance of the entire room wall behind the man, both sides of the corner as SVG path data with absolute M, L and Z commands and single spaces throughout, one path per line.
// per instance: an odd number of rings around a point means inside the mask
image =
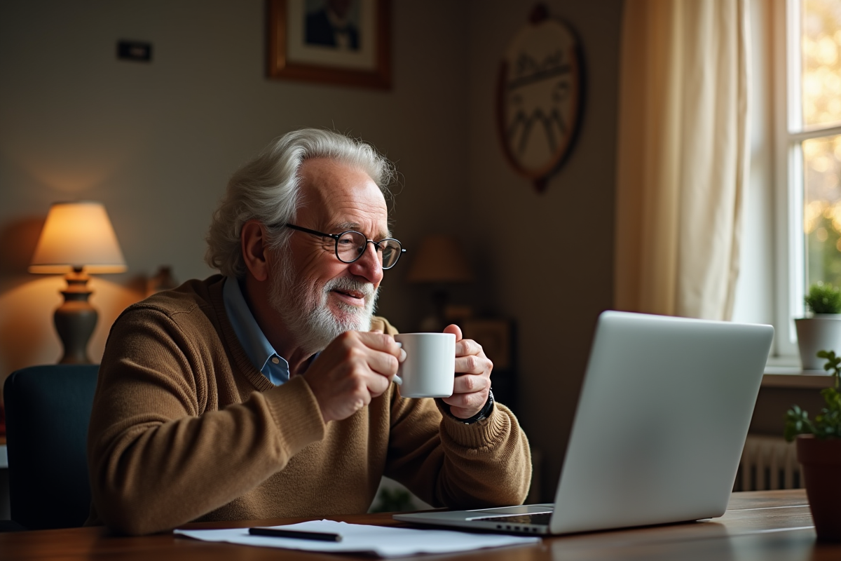
M 500 56 L 532 5 L 394 0 L 394 87 L 379 92 L 268 80 L 262 0 L 0 3 L 0 378 L 60 353 L 61 278 L 25 273 L 51 202 L 103 201 L 129 264 L 93 280 L 98 359 L 145 275 L 211 273 L 204 233 L 236 167 L 287 130 L 331 127 L 397 162 L 405 246 L 426 231 L 461 238 L 481 281 L 454 299 L 516 320 L 521 421 L 551 494 L 595 319 L 611 307 L 621 0 L 547 2 L 579 34 L 586 90 L 544 194 L 503 161 L 493 110 Z M 151 41 L 154 61 L 117 61 L 119 39 Z M 380 305 L 404 330 L 428 296 L 406 271 L 388 274 Z

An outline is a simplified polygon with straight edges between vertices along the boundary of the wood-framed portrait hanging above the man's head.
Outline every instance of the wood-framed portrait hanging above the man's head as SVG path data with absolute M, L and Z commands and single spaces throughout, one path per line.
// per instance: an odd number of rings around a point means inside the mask
M 391 87 L 389 0 L 269 0 L 268 75 Z

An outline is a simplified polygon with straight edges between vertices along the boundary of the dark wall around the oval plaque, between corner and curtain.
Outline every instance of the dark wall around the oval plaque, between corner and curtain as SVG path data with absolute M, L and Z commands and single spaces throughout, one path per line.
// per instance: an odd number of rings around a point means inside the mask
M 542 494 L 551 500 L 595 320 L 612 304 L 622 3 L 547 2 L 579 34 L 586 86 L 578 140 L 543 194 L 503 161 L 494 120 L 501 53 L 533 5 L 471 3 L 469 201 L 485 289 L 518 326 L 518 412 L 544 455 Z

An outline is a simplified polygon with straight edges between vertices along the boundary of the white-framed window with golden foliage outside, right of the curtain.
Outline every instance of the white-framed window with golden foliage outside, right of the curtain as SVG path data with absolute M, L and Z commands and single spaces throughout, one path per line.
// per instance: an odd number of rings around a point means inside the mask
M 841 286 L 841 0 L 778 0 L 773 21 L 776 354 L 795 357 L 807 287 Z

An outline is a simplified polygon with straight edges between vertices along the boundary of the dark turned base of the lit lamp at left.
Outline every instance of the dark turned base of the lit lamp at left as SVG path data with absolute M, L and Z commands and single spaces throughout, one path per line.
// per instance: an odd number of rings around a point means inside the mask
M 67 288 L 62 290 L 64 304 L 56 308 L 53 321 L 64 346 L 60 364 L 91 364 L 87 356 L 87 341 L 97 325 L 97 310 L 87 301 L 92 294 L 87 289 L 87 274 L 74 271 L 66 275 Z

